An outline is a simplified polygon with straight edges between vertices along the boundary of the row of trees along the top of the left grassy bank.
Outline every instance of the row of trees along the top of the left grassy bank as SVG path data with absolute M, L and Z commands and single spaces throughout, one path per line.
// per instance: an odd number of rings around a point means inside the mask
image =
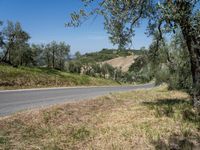
M 28 43 L 30 35 L 19 22 L 0 22 L 0 62 L 12 66 L 44 66 L 63 70 L 70 46 L 65 42 L 49 44 Z

